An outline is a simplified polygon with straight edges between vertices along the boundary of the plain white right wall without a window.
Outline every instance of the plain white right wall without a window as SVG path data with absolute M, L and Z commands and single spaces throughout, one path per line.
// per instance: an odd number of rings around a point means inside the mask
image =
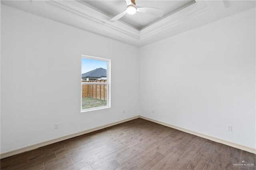
M 256 148 L 255 30 L 254 8 L 141 47 L 140 114 Z

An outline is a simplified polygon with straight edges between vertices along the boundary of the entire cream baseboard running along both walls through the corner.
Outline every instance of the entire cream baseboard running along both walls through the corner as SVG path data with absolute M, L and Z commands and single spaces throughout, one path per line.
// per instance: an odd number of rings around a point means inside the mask
M 228 140 L 224 140 L 224 139 L 221 139 L 221 138 L 216 138 L 214 136 L 210 136 L 210 135 L 203 134 L 203 133 L 200 133 L 200 132 L 196 132 L 196 131 L 193 131 L 193 130 L 189 130 L 189 129 L 186 129 L 186 128 L 181 128 L 181 127 L 177 127 L 177 126 L 174 126 L 174 125 L 170 125 L 168 123 L 160 122 L 160 121 L 150 119 L 150 118 L 147 118 L 147 117 L 144 117 L 144 116 L 135 116 L 135 117 L 124 119 L 124 120 L 117 121 L 117 122 L 114 122 L 114 123 L 109 123 L 107 125 L 102 125 L 100 127 L 91 128 L 91 129 L 88 129 L 88 130 L 83 130 L 81 132 L 76 132 L 76 133 L 73 133 L 73 134 L 68 134 L 66 136 L 61 136 L 61 137 L 54 138 L 54 139 L 51 139 L 51 140 L 46 140 L 44 142 L 32 144 L 30 146 L 18 148 L 18 149 L 15 149 L 15 150 L 10 150 L 8 152 L 1 153 L 0 154 L 0 159 L 6 158 L 6 157 L 9 157 L 9 156 L 13 156 L 13 155 L 16 155 L 16 154 L 20 154 L 22 152 L 33 150 L 33 149 L 36 149 L 36 148 L 40 148 L 40 147 L 46 146 L 48 144 L 53 144 L 53 143 L 56 143 L 56 142 L 60 142 L 62 140 L 66 140 L 66 139 L 69 139 L 69 138 L 74 138 L 74 137 L 80 136 L 82 134 L 86 134 L 86 133 L 94 132 L 96 130 L 100 130 L 100 129 L 103 129 L 103 128 L 111 127 L 111 126 L 114 126 L 114 125 L 117 125 L 117 124 L 120 124 L 120 123 L 124 123 L 124 122 L 127 122 L 127 121 L 131 121 L 131 120 L 137 119 L 137 118 L 141 118 L 141 119 L 145 119 L 145 120 L 148 120 L 148 121 L 151 121 L 151 122 L 154 122 L 154 123 L 158 123 L 158 124 L 164 125 L 166 127 L 175 128 L 177 130 L 180 130 L 180 131 L 183 131 L 183 132 L 186 132 L 186 133 L 190 133 L 190 134 L 194 134 L 196 136 L 200 136 L 202 138 L 206 138 L 206 139 L 212 140 L 214 142 L 226 144 L 228 146 L 232 146 L 234 148 L 238 148 L 238 149 L 245 150 L 247 152 L 251 152 L 251 153 L 256 154 L 256 149 L 255 148 L 251 148 L 251 147 L 248 147 L 248 146 L 237 144 L 237 143 L 234 143 L 234 142 L 231 142 L 231 141 L 228 141 Z

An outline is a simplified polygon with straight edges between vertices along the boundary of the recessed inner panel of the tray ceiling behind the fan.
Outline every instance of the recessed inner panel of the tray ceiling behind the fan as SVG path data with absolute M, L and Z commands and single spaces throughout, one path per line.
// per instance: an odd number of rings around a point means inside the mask
M 106 14 L 107 16 L 114 17 L 117 14 L 120 14 L 124 10 L 126 10 L 126 1 L 125 0 L 82 0 L 78 1 L 86 6 L 90 6 L 91 8 Z M 182 10 L 187 6 L 196 3 L 194 0 L 136 0 L 136 5 L 141 7 L 153 7 L 164 10 L 163 17 L 159 18 L 157 16 L 153 16 L 150 14 L 145 14 L 141 12 L 136 12 L 133 15 L 126 14 L 119 21 L 137 29 L 142 30 L 147 26 L 151 25 L 154 22 L 162 20 L 166 16 L 171 15 L 174 12 Z

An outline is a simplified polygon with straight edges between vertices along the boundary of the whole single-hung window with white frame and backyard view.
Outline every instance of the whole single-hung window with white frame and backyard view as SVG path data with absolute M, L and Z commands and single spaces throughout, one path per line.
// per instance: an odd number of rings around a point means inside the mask
M 110 59 L 82 55 L 81 112 L 110 107 Z

